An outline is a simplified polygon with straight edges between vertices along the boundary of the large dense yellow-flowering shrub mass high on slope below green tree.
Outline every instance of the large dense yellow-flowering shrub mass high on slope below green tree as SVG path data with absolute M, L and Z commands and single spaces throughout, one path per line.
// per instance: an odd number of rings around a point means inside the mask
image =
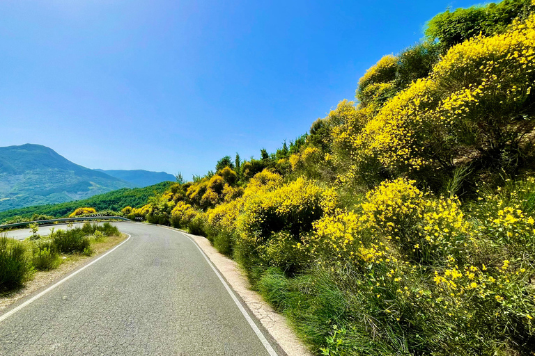
M 467 152 L 481 160 L 500 157 L 491 147 L 507 155 L 518 146 L 528 152 L 530 141 L 522 137 L 534 119 L 529 109 L 534 56 L 531 15 L 505 33 L 452 47 L 428 78 L 389 99 L 362 131 L 334 130 L 334 141 L 351 147 L 357 167 L 377 159 L 392 172 L 421 170 L 415 175 L 420 178 L 451 169 Z

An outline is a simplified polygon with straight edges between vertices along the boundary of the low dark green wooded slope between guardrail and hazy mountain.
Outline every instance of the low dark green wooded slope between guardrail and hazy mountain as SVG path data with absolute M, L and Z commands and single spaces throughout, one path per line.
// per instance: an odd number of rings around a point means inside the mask
M 111 209 L 121 211 L 124 207 L 141 207 L 146 204 L 149 197 L 153 195 L 162 195 L 173 182 L 163 181 L 162 183 L 145 188 L 122 188 L 117 191 L 93 195 L 84 200 L 75 202 L 65 202 L 61 204 L 40 205 L 37 207 L 25 207 L 0 212 L 0 223 L 13 219 L 15 216 L 20 218 L 31 218 L 33 214 L 49 215 L 56 218 L 68 216 L 72 211 L 79 207 L 91 207 L 97 211 Z

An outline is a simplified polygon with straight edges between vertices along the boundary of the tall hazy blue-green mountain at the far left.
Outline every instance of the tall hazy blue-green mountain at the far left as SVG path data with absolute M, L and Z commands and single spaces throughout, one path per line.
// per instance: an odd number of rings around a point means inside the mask
M 0 147 L 0 211 L 133 187 L 130 182 L 72 163 L 49 147 Z

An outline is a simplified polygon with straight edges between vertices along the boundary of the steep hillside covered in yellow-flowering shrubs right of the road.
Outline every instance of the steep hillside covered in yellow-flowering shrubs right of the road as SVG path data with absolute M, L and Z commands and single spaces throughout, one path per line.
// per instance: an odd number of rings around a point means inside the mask
M 206 236 L 316 355 L 533 355 L 534 10 L 439 14 L 306 135 L 123 212 Z

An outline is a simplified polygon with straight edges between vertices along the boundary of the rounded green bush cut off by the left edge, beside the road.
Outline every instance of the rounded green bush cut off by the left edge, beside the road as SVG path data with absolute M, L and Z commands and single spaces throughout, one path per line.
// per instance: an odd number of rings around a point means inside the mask
M 20 286 L 30 271 L 24 245 L 13 238 L 0 237 L 0 291 Z

